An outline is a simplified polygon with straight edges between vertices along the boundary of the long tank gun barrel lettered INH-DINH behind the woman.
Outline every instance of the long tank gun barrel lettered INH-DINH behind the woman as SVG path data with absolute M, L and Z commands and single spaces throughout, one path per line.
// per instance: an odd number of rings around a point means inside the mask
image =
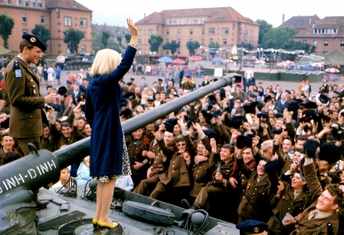
M 125 121 L 122 124 L 123 131 L 124 133 L 131 133 L 231 83 L 232 76 L 224 77 L 185 96 L 160 105 Z M 37 153 L 31 153 L 14 162 L 0 166 L 0 200 L 17 188 L 34 190 L 57 181 L 61 169 L 81 161 L 89 154 L 89 146 L 90 137 L 87 137 L 53 153 L 41 149 Z

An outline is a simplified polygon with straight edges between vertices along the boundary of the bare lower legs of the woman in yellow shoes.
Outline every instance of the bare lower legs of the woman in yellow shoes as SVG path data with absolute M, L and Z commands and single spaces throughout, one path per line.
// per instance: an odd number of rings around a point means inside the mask
M 113 198 L 113 192 L 115 188 L 115 180 L 112 179 L 107 183 L 99 183 L 101 185 L 101 202 L 99 208 L 98 221 L 111 223 L 109 219 L 109 210 Z M 98 188 L 97 188 L 98 189 Z M 98 193 L 98 192 L 97 192 Z M 98 194 L 97 194 L 97 209 L 98 209 Z M 96 213 L 97 214 L 97 213 Z

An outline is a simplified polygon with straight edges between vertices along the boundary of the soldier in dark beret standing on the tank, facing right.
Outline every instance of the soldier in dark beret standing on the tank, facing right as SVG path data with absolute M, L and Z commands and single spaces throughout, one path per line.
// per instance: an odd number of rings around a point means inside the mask
M 42 118 L 45 118 L 42 108 L 56 97 L 41 96 L 39 77 L 30 68 L 31 64 L 38 64 L 46 46 L 35 35 L 24 33 L 19 49 L 19 55 L 6 68 L 5 79 L 11 109 L 10 135 L 15 138 L 19 152 L 26 155 L 28 143 L 40 147 Z

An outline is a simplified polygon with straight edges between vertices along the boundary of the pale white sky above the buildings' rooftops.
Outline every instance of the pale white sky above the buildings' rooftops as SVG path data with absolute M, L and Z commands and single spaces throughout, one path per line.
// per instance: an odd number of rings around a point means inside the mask
M 343 0 L 77 0 L 93 11 L 93 23 L 125 26 L 127 17 L 138 21 L 155 11 L 230 6 L 252 20 L 263 19 L 277 27 L 298 15 L 344 15 Z

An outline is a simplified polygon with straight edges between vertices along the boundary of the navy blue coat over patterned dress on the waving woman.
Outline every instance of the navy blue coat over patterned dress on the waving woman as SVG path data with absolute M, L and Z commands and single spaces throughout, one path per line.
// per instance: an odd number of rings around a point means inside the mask
M 110 74 L 95 75 L 87 88 L 86 118 L 92 126 L 90 175 L 130 174 L 120 122 L 121 88 L 118 82 L 130 69 L 136 49 L 128 46 L 121 63 Z

